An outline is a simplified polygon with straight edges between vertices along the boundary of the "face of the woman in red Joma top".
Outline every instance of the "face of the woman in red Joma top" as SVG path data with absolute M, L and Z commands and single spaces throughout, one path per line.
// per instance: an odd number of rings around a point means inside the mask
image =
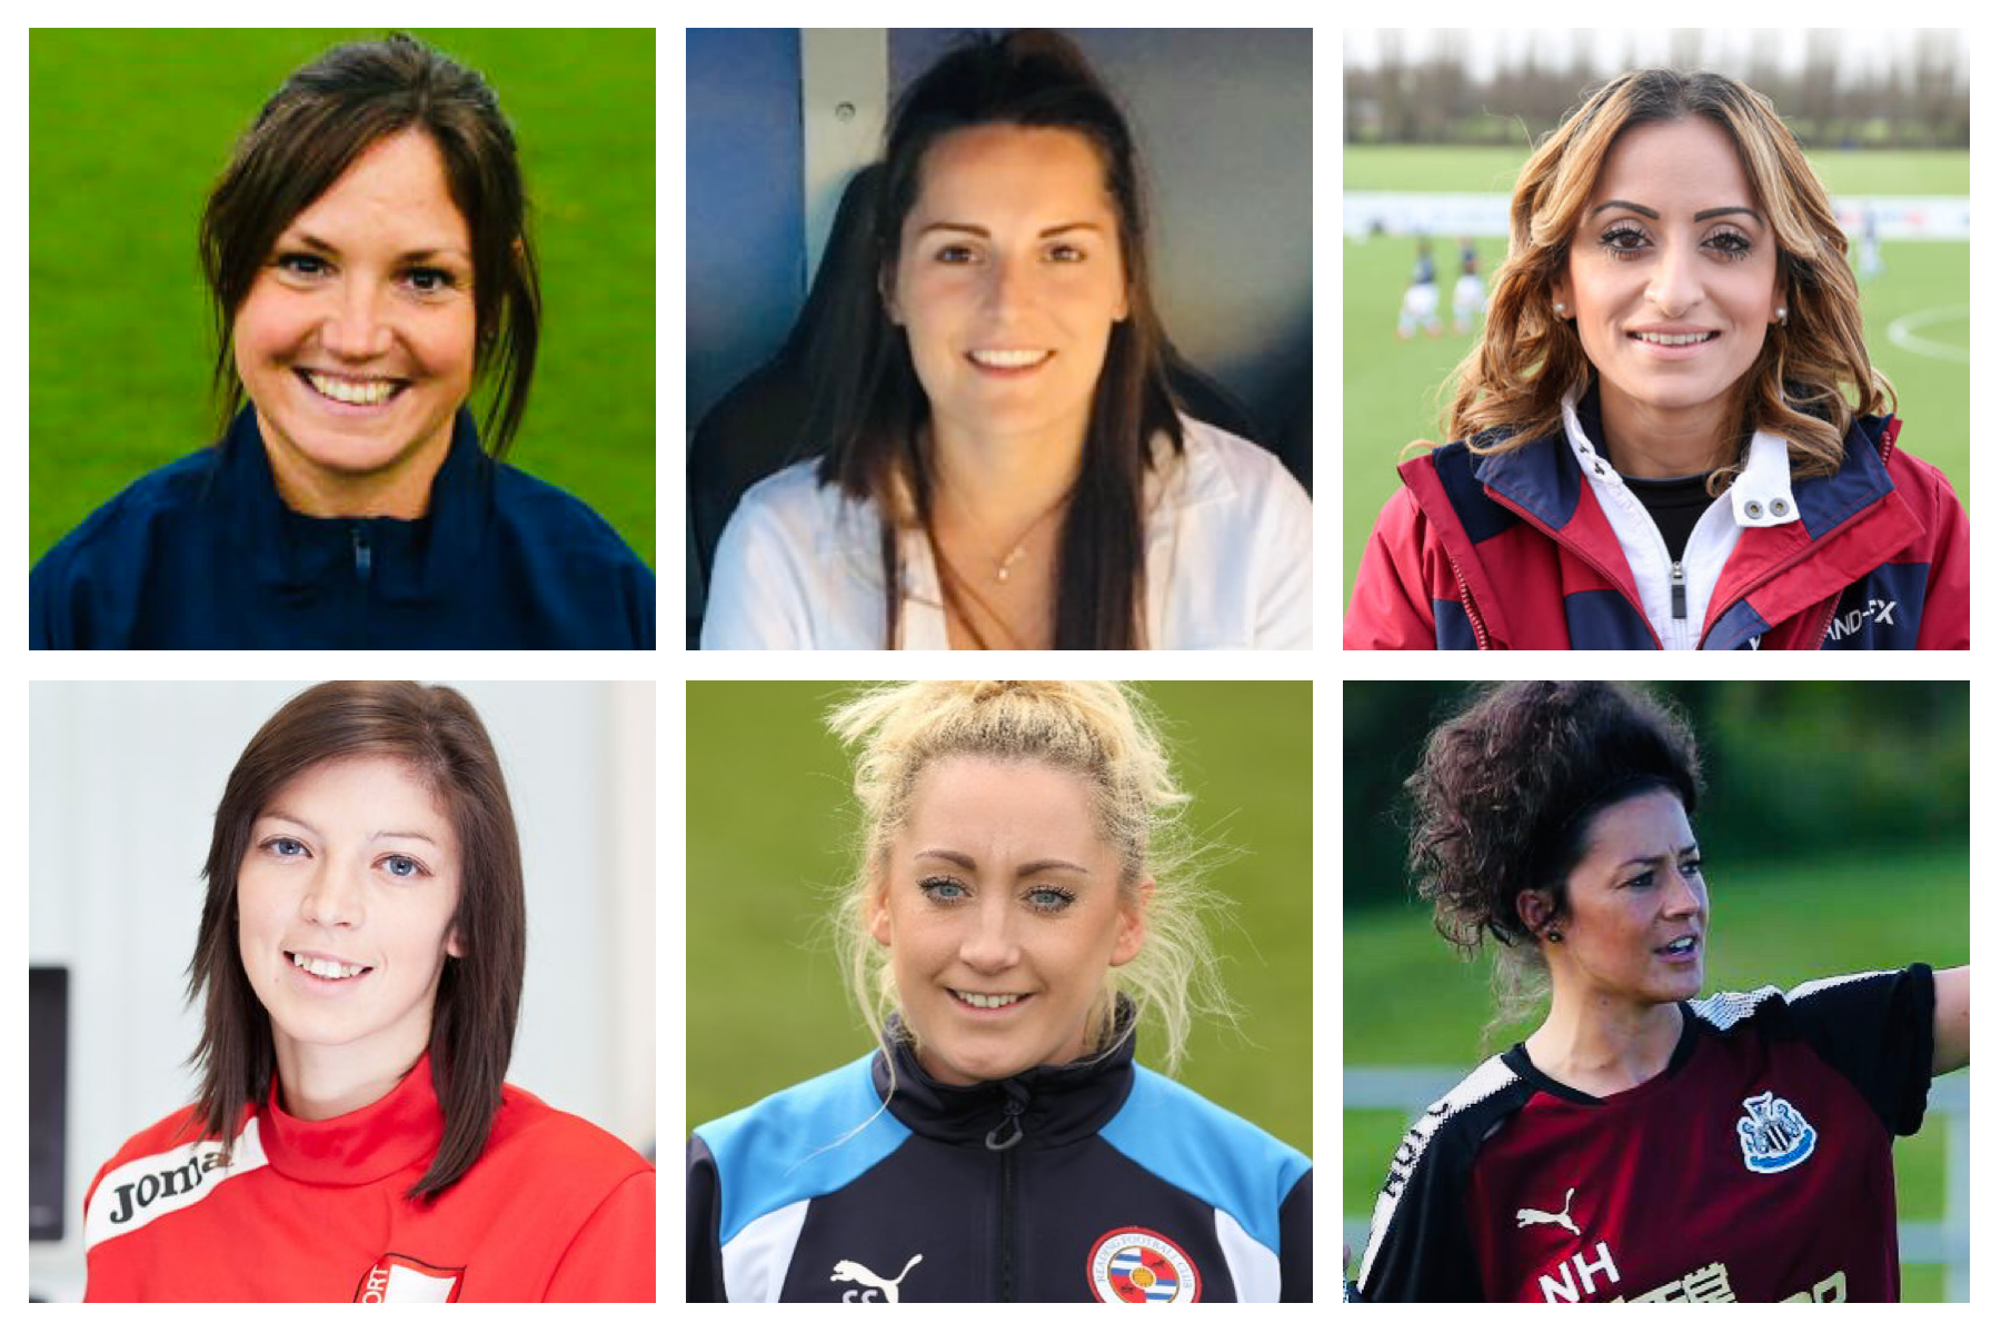
M 424 1051 L 460 953 L 458 869 L 450 821 L 400 759 L 330 759 L 272 795 L 236 871 L 236 943 L 282 1067 L 288 1045 L 362 1067 Z

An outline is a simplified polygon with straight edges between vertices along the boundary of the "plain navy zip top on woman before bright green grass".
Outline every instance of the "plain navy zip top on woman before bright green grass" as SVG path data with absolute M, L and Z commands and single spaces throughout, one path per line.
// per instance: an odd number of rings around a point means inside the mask
M 652 570 L 584 502 L 480 450 L 422 518 L 310 518 L 256 412 L 150 472 L 28 576 L 30 648 L 652 648 Z

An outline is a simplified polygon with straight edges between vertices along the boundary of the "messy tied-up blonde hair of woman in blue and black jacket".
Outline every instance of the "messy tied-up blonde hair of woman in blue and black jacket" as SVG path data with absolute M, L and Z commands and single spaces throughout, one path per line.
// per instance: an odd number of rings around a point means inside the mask
M 1143 905 L 1145 945 L 1125 967 L 1107 969 L 1091 1007 L 1095 1051 L 1111 1051 L 1151 1019 L 1165 1039 L 1157 1061 L 1173 1073 L 1195 1015 L 1233 1017 L 1205 929 L 1221 899 L 1199 883 L 1199 849 L 1183 825 L 1189 795 L 1175 785 L 1159 725 L 1135 689 L 1105 681 L 916 681 L 874 687 L 834 709 L 826 725 L 858 751 L 858 863 L 832 925 L 852 999 L 876 1033 L 898 999 L 888 949 L 868 931 L 870 905 L 918 779 L 952 755 L 1041 763 L 1085 779 L 1097 827 L 1119 853 L 1119 891 L 1137 895 L 1149 875 L 1155 881 Z M 1121 995 L 1131 1005 L 1119 1005 Z

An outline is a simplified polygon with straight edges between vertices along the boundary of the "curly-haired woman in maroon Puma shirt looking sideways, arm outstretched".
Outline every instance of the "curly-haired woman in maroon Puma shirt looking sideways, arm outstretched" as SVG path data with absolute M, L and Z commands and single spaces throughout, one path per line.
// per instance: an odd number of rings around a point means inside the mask
M 1483 689 L 1405 787 L 1439 935 L 1547 1015 L 1405 1135 L 1349 1299 L 1895 1301 L 1891 1149 L 1971 1059 L 1971 967 L 1705 997 L 1701 761 L 1631 687 Z

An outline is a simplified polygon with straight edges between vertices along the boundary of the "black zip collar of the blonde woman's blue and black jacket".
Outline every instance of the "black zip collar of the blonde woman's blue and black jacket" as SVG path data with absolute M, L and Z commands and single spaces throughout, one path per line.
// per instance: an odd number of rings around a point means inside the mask
M 1011 1079 L 958 1087 L 938 1083 L 916 1061 L 900 1017 L 890 1017 L 884 1041 L 896 1063 L 876 1053 L 870 1073 L 890 1115 L 926 1139 L 992 1151 L 1047 1149 L 1099 1133 L 1133 1091 L 1131 1005 L 1119 1001 L 1125 1039 L 1111 1051 L 1069 1065 L 1037 1065 Z

